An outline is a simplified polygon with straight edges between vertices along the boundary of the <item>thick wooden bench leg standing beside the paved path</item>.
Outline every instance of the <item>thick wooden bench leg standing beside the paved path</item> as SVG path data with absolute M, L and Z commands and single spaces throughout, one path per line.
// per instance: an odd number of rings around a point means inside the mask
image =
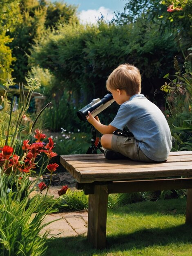
M 89 195 L 87 238 L 97 249 L 106 247 L 107 185 L 95 185 L 94 194 Z

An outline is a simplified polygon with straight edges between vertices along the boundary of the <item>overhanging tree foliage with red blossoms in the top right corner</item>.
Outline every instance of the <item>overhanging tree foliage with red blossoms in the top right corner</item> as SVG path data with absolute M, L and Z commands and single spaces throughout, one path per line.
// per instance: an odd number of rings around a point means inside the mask
M 124 12 L 117 13 L 112 22 L 118 25 L 130 22 L 157 24 L 156 33 L 169 29 L 179 49 L 187 52 L 192 40 L 192 0 L 128 0 Z

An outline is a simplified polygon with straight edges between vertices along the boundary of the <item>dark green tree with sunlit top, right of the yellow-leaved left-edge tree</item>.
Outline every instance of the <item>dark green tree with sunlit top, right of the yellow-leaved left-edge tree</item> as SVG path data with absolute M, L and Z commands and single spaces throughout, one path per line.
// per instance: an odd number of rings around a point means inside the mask
M 11 66 L 14 70 L 13 76 L 16 77 L 17 82 L 21 82 L 25 80 L 25 76 L 31 69 L 28 58 L 35 42 L 42 38 L 47 29 L 70 20 L 78 22 L 78 18 L 76 7 L 65 3 L 52 4 L 46 0 L 18 0 L 17 2 L 20 18 L 15 29 L 7 31 L 6 34 L 9 38 L 13 38 L 8 44 L 15 60 Z M 5 22 L 6 20 L 7 18 Z

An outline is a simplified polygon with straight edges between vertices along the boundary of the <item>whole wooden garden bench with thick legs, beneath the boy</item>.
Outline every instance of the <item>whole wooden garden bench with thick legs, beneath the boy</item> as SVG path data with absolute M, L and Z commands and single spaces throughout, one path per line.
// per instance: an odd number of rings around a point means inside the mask
M 171 152 L 163 163 L 107 160 L 103 154 L 61 155 L 61 164 L 89 195 L 89 242 L 106 246 L 109 193 L 188 189 L 185 222 L 192 224 L 192 151 Z

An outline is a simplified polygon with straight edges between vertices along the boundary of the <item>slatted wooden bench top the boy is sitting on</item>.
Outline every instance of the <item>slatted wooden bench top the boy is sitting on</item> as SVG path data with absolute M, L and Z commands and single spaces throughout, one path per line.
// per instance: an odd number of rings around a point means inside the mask
M 107 160 L 103 154 L 61 155 L 60 162 L 79 183 L 192 176 L 192 151 L 171 152 L 162 163 Z

